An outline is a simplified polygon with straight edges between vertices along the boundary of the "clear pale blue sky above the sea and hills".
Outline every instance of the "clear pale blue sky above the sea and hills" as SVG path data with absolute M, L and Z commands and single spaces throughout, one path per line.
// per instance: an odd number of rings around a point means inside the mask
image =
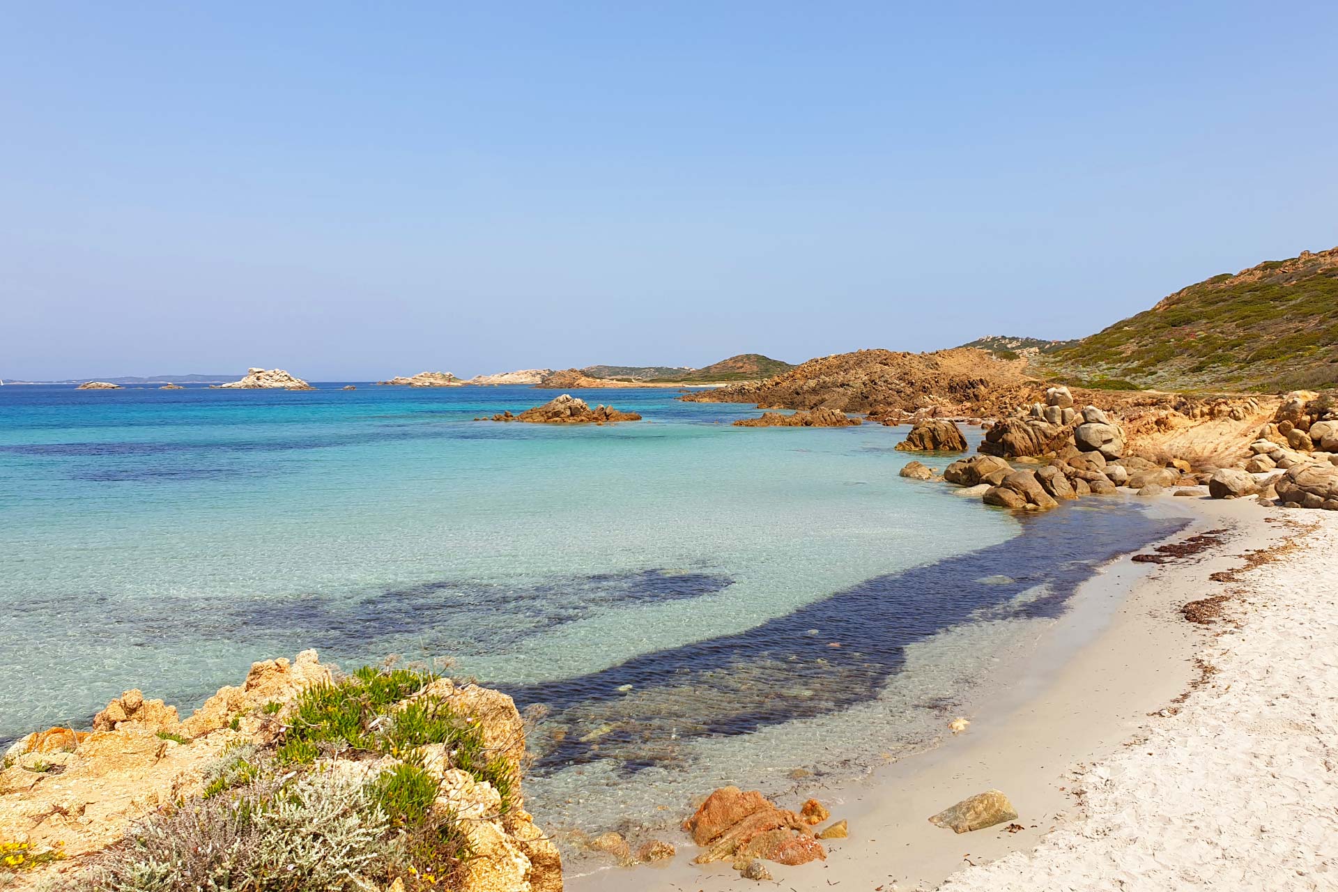
M 1338 5 L 1016 5 L 7 4 L 0 377 L 1060 338 L 1338 243 Z

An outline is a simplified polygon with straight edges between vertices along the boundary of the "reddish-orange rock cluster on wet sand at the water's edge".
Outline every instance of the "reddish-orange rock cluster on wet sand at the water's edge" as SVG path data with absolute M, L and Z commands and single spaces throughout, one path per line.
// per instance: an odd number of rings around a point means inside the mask
M 682 829 L 704 849 L 694 864 L 731 860 L 741 871 L 753 859 L 807 864 L 827 857 L 803 814 L 737 786 L 723 786 L 708 796 Z

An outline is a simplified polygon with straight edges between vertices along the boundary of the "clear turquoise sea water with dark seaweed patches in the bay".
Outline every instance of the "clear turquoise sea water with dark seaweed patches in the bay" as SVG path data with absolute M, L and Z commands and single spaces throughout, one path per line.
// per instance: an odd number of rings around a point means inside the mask
M 547 713 L 534 810 L 650 821 L 814 722 L 876 709 L 886 740 L 846 756 L 911 745 L 1097 563 L 1168 531 L 904 480 L 904 429 L 733 428 L 757 411 L 664 389 L 581 393 L 642 423 L 495 424 L 472 419 L 555 392 L 339 386 L 0 388 L 0 690 L 23 691 L 0 741 L 131 686 L 189 711 L 304 647 L 451 657 Z

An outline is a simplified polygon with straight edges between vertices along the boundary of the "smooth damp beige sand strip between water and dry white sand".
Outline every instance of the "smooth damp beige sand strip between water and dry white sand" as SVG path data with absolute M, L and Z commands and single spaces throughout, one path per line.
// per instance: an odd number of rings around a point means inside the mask
M 1073 608 L 1040 634 L 1030 653 L 1001 662 L 991 681 L 973 691 L 973 707 L 962 713 L 973 723 L 963 734 L 945 737 L 938 746 L 863 778 L 783 797 L 783 806 L 816 797 L 834 818 L 850 821 L 851 837 L 832 840 L 826 863 L 768 864 L 777 887 L 795 892 L 838 883 L 855 889 L 935 888 L 962 868 L 1030 849 L 1050 830 L 1081 820 L 1076 768 L 1119 753 L 1132 737 L 1167 721 L 1157 711 L 1188 691 L 1199 675 L 1195 658 L 1211 642 L 1212 629 L 1187 622 L 1180 607 L 1222 591 L 1208 579 L 1211 574 L 1239 568 L 1239 555 L 1274 547 L 1288 535 L 1268 523 L 1274 512 L 1252 501 L 1187 501 L 1176 500 L 1175 508 L 1192 511 L 1192 520 L 1168 540 L 1227 527 L 1223 544 L 1167 564 L 1135 563 L 1135 552 L 1108 563 L 1080 587 Z M 1113 610 L 1107 606 L 1112 599 L 1119 600 Z M 1018 675 L 1021 683 L 1013 681 Z M 958 836 L 927 822 L 930 814 L 991 788 L 1013 800 L 1022 830 L 1010 833 L 998 825 Z M 570 876 L 567 888 L 615 892 L 636 883 L 645 892 L 724 892 L 757 887 L 728 864 L 689 864 L 696 852 L 690 845 L 685 849 L 666 865 L 636 868 L 636 875 L 607 868 Z

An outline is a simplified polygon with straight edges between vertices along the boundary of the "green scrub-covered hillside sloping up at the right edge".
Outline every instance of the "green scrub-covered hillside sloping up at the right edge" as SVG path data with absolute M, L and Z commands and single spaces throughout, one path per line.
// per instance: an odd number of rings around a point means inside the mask
M 1338 247 L 1214 275 L 1029 358 L 1038 376 L 1112 389 L 1338 385 Z

